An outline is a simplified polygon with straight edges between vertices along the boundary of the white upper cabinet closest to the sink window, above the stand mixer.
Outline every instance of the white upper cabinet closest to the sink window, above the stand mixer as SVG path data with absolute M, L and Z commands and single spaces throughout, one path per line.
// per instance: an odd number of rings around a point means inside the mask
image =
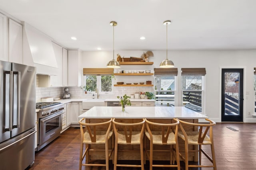
M 68 50 L 68 86 L 82 86 L 81 54 Z

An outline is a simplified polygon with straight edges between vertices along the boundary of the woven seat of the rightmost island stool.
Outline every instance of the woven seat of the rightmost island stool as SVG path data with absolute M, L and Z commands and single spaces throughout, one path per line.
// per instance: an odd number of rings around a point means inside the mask
M 186 132 L 188 135 L 188 145 L 198 145 L 198 135 L 199 132 L 194 132 L 194 131 L 188 131 Z M 184 134 L 182 132 L 178 133 L 178 136 L 185 140 Z M 211 145 L 212 142 L 210 141 L 210 137 L 208 135 L 206 135 L 204 137 L 204 141 L 202 143 L 202 145 Z

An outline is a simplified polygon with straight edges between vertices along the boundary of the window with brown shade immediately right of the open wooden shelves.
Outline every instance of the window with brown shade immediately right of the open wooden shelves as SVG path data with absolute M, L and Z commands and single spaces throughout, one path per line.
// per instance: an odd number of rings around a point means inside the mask
M 154 68 L 156 106 L 175 106 L 177 68 Z

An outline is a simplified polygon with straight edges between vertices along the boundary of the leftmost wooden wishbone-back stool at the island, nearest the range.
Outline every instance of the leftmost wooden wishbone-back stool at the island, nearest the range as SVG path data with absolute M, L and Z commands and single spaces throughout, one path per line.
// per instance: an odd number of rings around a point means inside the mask
M 81 143 L 80 143 L 80 158 L 79 158 L 79 170 L 82 169 L 82 166 L 106 166 L 106 170 L 109 169 L 109 159 L 114 151 L 114 138 L 112 137 L 113 131 L 112 131 L 112 118 L 108 121 L 102 122 L 102 123 L 83 123 L 85 118 L 80 119 L 80 133 L 81 133 Z M 109 124 L 109 125 L 108 125 Z M 84 127 L 86 131 L 84 131 Z M 100 126 L 106 126 L 105 129 L 100 129 L 99 131 L 96 131 L 96 127 Z M 108 148 L 108 141 L 112 139 L 112 149 Z M 84 144 L 86 144 L 86 149 L 83 153 Z M 90 145 L 91 144 L 104 144 L 105 150 L 94 150 L 94 151 L 105 151 L 106 156 L 106 162 L 105 164 L 91 164 L 89 160 L 86 160 L 86 162 L 83 164 L 82 161 L 84 160 L 84 157 L 86 156 L 89 158 L 90 154 Z M 113 155 L 112 155 L 113 156 Z M 114 157 L 114 156 L 113 156 Z

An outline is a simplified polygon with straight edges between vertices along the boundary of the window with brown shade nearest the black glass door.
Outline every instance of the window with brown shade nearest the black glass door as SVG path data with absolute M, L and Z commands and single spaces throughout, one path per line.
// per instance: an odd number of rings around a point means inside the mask
M 188 109 L 202 112 L 205 68 L 182 68 L 182 102 Z

